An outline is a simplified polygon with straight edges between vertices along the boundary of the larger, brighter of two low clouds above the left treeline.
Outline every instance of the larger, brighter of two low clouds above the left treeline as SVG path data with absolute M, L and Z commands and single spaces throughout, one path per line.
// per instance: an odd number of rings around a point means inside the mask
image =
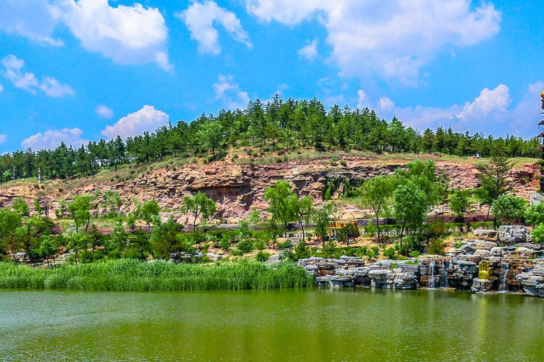
M 122 138 L 137 136 L 145 131 L 153 132 L 155 129 L 168 124 L 168 121 L 169 116 L 166 113 L 156 110 L 152 105 L 145 105 L 141 110 L 119 119 L 112 126 L 106 126 L 101 134 L 110 139 L 117 136 Z

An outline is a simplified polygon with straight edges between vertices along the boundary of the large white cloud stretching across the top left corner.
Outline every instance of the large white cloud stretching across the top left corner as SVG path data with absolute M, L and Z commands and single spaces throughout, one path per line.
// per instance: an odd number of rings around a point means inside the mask
M 168 30 L 159 9 L 110 6 L 108 0 L 1 0 L 0 30 L 51 45 L 52 34 L 64 24 L 81 46 L 120 64 L 156 63 L 172 69 L 166 55 Z

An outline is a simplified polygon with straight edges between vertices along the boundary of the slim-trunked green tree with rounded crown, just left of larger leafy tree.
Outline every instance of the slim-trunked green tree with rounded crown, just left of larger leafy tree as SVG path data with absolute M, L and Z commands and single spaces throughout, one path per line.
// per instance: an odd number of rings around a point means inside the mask
M 391 177 L 377 176 L 366 180 L 361 187 L 363 206 L 370 207 L 376 218 L 378 243 L 380 243 L 380 213 L 387 209 L 393 193 Z

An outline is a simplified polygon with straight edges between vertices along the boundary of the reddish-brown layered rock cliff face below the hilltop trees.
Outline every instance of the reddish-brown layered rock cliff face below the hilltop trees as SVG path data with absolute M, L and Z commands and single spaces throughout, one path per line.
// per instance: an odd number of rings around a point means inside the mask
M 183 204 L 183 197 L 196 192 L 205 192 L 217 202 L 215 218 L 222 221 L 235 221 L 245 216 L 251 207 L 266 209 L 263 193 L 276 180 L 288 180 L 300 195 L 310 194 L 322 201 L 327 180 L 348 177 L 361 180 L 377 175 L 393 173 L 404 163 L 380 163 L 373 158 L 343 158 L 346 165 L 331 165 L 329 160 L 305 160 L 277 163 L 272 165 L 237 165 L 230 162 L 208 164 L 188 164 L 176 169 L 158 168 L 149 174 L 123 182 L 98 180 L 97 177 L 73 182 L 73 185 L 60 180 L 45 182 L 38 188 L 33 184 L 18 184 L 0 187 L 0 206 L 8 206 L 14 197 L 23 197 L 29 203 L 39 198 L 57 206 L 61 197 L 74 194 L 93 193 L 96 190 L 117 190 L 121 197 L 132 197 L 147 201 L 156 199 L 163 209 L 175 211 Z M 450 176 L 451 187 L 475 188 L 478 186 L 478 170 L 472 163 L 453 163 L 436 159 L 438 170 L 445 170 Z M 509 173 L 516 194 L 528 199 L 531 192 L 538 189 L 538 165 L 524 165 Z M 69 187 L 69 185 L 71 185 Z M 128 203 L 127 203 L 128 204 Z M 123 206 L 129 211 L 132 206 Z M 180 220 L 181 222 L 186 220 Z

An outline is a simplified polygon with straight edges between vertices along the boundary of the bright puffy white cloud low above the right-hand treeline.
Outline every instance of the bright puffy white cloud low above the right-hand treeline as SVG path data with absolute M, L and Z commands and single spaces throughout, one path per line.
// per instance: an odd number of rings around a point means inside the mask
M 484 88 L 474 102 L 465 103 L 457 117 L 465 122 L 482 119 L 489 115 L 497 117 L 506 114 L 506 108 L 511 102 L 509 89 L 504 84 L 500 84 L 493 90 Z

